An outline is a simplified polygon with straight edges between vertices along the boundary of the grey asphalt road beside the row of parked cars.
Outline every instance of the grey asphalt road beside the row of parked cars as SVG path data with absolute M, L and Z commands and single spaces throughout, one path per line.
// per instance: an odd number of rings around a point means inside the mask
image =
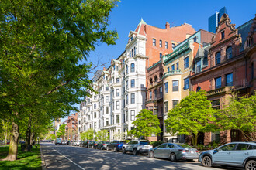
M 199 162 L 170 162 L 167 159 L 148 158 L 146 155 L 123 154 L 67 145 L 41 144 L 46 169 L 181 169 L 220 170 L 206 168 Z M 237 169 L 237 168 L 224 168 Z

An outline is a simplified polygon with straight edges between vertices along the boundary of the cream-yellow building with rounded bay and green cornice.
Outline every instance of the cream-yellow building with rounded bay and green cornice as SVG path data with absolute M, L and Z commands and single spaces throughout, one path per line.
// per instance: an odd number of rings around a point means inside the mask
M 164 120 L 168 116 L 168 111 L 174 108 L 180 100 L 189 95 L 190 80 L 192 70 L 199 70 L 193 66 L 194 59 L 204 67 L 203 59 L 206 59 L 206 47 L 211 42 L 213 33 L 200 29 L 185 41 L 174 48 L 174 51 L 163 57 L 164 64 Z M 184 141 L 184 136 L 169 134 L 164 128 L 164 141 Z

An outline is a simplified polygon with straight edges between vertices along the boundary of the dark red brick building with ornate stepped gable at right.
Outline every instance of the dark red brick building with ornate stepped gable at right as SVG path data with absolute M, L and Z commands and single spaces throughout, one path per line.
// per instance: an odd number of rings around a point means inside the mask
M 223 14 L 210 43 L 207 66 L 189 77 L 192 91 L 206 90 L 208 99 L 216 109 L 223 108 L 232 91 L 239 95 L 251 95 L 256 88 L 256 17 L 234 27 L 229 16 Z M 197 63 L 195 64 L 195 68 Z M 205 133 L 200 144 L 218 141 L 227 143 L 243 140 L 238 130 Z

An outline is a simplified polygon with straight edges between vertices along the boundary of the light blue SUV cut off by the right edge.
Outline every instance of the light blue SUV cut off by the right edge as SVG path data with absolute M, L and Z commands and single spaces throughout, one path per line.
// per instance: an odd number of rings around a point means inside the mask
M 199 155 L 203 166 L 229 165 L 256 169 L 256 141 L 237 141 L 216 149 L 203 151 Z

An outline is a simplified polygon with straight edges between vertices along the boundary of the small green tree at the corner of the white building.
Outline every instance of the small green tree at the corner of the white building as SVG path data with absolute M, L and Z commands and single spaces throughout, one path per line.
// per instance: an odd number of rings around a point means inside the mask
M 150 137 L 152 134 L 157 135 L 161 133 L 161 128 L 159 128 L 159 119 L 157 115 L 154 115 L 152 111 L 147 109 L 140 110 L 140 113 L 137 114 L 136 120 L 133 121 L 135 128 L 130 130 L 128 134 L 132 134 L 139 137 Z

